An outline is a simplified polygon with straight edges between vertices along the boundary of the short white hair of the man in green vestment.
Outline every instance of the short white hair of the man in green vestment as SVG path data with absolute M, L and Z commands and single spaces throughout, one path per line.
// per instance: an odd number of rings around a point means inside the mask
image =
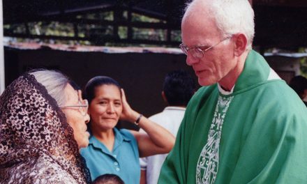
M 247 49 L 252 48 L 255 23 L 254 11 L 248 0 L 194 0 L 186 7 L 186 13 L 196 2 L 197 6 L 200 3 L 203 8 L 207 8 L 207 13 L 215 20 L 221 36 L 226 38 L 244 33 L 247 37 Z

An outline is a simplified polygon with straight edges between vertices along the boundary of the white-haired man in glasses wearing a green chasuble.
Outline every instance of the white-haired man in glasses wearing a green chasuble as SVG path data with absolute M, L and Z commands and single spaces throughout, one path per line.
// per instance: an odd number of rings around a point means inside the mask
M 307 183 L 307 109 L 251 49 L 247 0 L 194 0 L 181 24 L 202 87 L 158 183 Z

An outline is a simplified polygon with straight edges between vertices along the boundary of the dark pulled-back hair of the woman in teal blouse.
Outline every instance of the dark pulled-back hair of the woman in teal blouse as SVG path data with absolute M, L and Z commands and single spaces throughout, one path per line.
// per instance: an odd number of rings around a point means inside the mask
M 121 86 L 119 83 L 112 79 L 111 77 L 106 77 L 106 76 L 96 76 L 93 77 L 87 82 L 87 85 L 85 85 L 84 89 L 84 98 L 89 101 L 89 104 L 91 104 L 91 100 L 95 98 L 95 89 L 98 86 L 102 85 L 114 85 L 121 89 Z

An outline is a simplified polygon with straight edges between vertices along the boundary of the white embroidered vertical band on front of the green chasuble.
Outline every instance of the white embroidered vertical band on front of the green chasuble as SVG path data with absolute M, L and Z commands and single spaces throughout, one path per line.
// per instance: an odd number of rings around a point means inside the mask
M 196 167 L 196 183 L 211 184 L 218 174 L 218 158 L 222 126 L 227 109 L 233 96 L 218 97 L 218 103 L 214 112 L 214 118 L 209 130 L 207 144 L 202 148 Z

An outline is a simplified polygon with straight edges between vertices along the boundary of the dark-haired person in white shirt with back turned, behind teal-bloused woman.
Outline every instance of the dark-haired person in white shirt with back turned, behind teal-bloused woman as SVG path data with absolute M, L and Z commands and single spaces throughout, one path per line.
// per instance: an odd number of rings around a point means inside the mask
M 149 119 L 163 126 L 176 136 L 179 125 L 184 118 L 186 105 L 195 92 L 193 78 L 184 70 L 175 70 L 168 73 L 163 83 L 162 98 L 167 102 L 167 107 Z M 143 130 L 144 131 L 144 130 Z M 153 155 L 140 159 L 141 183 L 156 184 L 160 169 L 167 154 Z

